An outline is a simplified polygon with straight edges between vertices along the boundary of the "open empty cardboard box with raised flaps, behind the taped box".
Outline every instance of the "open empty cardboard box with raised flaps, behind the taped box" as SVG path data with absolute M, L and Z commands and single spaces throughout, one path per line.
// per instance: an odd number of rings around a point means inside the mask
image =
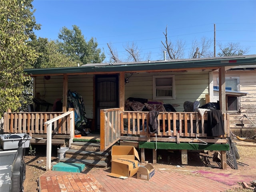
M 112 146 L 111 149 L 111 159 L 116 160 L 120 158 L 127 158 L 131 160 L 135 160 L 135 157 L 140 160 L 138 151 L 134 146 Z

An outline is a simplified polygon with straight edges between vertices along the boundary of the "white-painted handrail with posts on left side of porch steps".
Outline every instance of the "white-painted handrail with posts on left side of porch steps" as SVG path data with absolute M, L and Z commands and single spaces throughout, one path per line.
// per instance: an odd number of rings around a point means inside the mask
M 64 114 L 61 114 L 55 118 L 52 118 L 46 122 L 44 125 L 46 126 L 46 133 L 47 133 L 47 143 L 46 143 L 46 170 L 50 170 L 51 168 L 51 154 L 52 154 L 52 125 L 55 122 L 60 122 L 62 119 L 67 119 L 67 127 L 68 127 L 68 134 L 71 135 L 69 141 L 69 147 L 71 146 L 72 140 L 74 138 L 74 111 L 70 110 Z

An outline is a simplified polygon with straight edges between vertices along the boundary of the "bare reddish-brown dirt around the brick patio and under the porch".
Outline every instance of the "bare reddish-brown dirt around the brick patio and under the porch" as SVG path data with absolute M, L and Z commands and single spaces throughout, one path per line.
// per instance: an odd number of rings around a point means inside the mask
M 238 143 L 241 143 L 238 141 Z M 244 143 L 244 142 L 243 142 Z M 249 142 L 246 142 L 249 143 Z M 220 168 L 218 158 L 215 158 L 214 152 L 188 152 L 188 165 L 181 164 L 180 151 L 158 150 L 158 163 L 153 165 L 156 170 L 166 170 L 170 172 L 178 172 L 179 174 L 194 174 L 204 176 L 213 180 L 235 185 L 241 184 L 242 181 L 251 182 L 256 180 L 256 144 L 250 143 L 252 146 L 236 145 L 240 158 L 237 161 L 238 170 L 227 165 L 226 170 Z M 46 147 L 35 145 L 32 149 L 36 150 L 35 156 L 31 156 L 29 148 L 26 149 L 26 179 L 24 181 L 25 192 L 36 192 L 38 188 L 38 177 L 46 172 Z M 58 162 L 57 148 L 52 148 L 52 162 Z M 146 152 L 146 160 L 152 163 L 152 151 Z M 86 166 L 86 169 L 94 169 Z M 253 179 L 254 178 L 254 179 Z

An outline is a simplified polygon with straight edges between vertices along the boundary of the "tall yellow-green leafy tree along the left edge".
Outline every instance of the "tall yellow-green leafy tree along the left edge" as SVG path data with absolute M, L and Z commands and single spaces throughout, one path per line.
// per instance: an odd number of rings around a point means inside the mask
M 25 93 L 24 68 L 31 67 L 38 54 L 28 46 L 34 38 L 32 0 L 1 0 L 0 4 L 0 116 L 8 109 L 17 111 Z

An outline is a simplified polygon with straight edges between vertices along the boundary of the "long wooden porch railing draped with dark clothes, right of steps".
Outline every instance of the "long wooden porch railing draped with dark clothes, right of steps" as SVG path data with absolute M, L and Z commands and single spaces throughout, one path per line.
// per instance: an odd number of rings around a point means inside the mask
M 198 112 L 159 112 L 158 133 L 160 138 L 206 138 L 207 135 L 207 112 L 201 117 Z M 228 114 L 223 114 L 225 134 L 229 136 Z M 155 134 L 148 134 L 149 112 L 121 112 L 121 137 L 139 136 L 149 138 Z M 170 139 L 169 139 L 170 140 Z M 187 140 L 190 141 L 190 140 Z

